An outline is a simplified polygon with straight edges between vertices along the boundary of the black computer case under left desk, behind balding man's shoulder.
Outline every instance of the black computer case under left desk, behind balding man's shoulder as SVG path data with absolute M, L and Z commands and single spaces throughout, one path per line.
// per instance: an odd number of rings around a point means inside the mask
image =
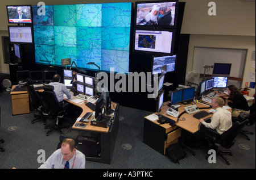
M 97 137 L 77 137 L 77 149 L 80 150 L 85 157 L 100 157 L 100 143 Z

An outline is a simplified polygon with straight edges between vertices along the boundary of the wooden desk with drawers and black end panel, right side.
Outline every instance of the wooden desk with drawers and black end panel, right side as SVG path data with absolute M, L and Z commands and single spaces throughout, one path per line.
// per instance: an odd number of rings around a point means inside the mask
M 224 93 L 218 93 L 218 91 L 214 91 L 216 94 L 218 94 L 219 97 L 224 96 Z M 163 106 L 161 108 L 161 111 L 159 114 L 162 114 L 166 116 L 167 118 L 170 118 L 172 120 L 175 120 L 175 127 L 172 127 L 170 124 L 160 124 L 157 122 L 157 120 L 150 120 L 148 119 L 148 116 L 144 117 L 144 134 L 143 134 L 143 143 L 147 144 L 150 146 L 152 149 L 155 149 L 161 154 L 166 153 L 166 148 L 170 144 L 175 144 L 177 143 L 179 137 L 181 136 L 181 129 L 184 129 L 185 131 L 195 133 L 199 131 L 200 127 L 200 121 L 199 119 L 196 119 L 193 117 L 193 114 L 187 114 L 185 112 L 183 115 L 180 116 L 181 118 L 185 118 L 185 120 L 179 120 L 177 121 L 177 118 L 174 118 L 172 116 L 169 116 L 166 114 L 166 111 L 168 110 L 169 102 L 164 102 Z M 185 111 L 184 107 L 185 106 L 190 106 L 191 104 L 184 105 L 180 104 L 179 107 L 179 112 Z M 201 109 L 204 111 L 210 110 L 210 107 L 207 104 L 202 104 L 202 103 L 196 103 L 196 106 L 199 108 L 205 108 Z M 209 107 L 209 108 L 207 108 Z M 230 112 L 232 111 L 231 109 L 228 109 Z M 158 114 L 158 113 L 155 113 Z M 206 116 L 204 119 L 209 118 L 212 115 Z

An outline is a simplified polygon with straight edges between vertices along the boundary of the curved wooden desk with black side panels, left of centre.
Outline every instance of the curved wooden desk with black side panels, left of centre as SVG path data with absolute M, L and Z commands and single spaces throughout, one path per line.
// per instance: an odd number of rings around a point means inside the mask
M 92 112 L 89 107 L 85 105 L 85 103 L 75 103 L 68 99 L 64 99 L 68 103 L 71 103 L 77 107 L 80 107 L 82 113 L 79 118 L 82 118 L 86 114 L 86 112 Z M 84 137 L 93 137 L 98 140 L 98 146 L 100 146 L 100 156 L 98 157 L 88 157 L 86 156 L 86 160 L 94 161 L 94 162 L 102 162 L 106 164 L 110 164 L 114 152 L 115 140 L 117 138 L 117 132 L 119 128 L 119 104 L 112 102 L 112 108 L 114 111 L 113 122 L 108 128 L 97 127 L 94 125 L 90 125 L 90 120 L 93 117 L 89 118 L 89 122 L 86 124 L 85 128 L 75 127 L 76 119 L 74 119 L 74 124 L 72 128 L 68 130 L 68 132 L 64 133 L 63 136 L 71 137 L 76 139 L 78 136 Z

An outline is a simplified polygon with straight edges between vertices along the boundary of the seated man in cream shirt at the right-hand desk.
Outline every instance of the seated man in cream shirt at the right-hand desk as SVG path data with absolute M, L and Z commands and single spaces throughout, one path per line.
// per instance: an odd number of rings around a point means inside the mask
M 211 136 L 218 136 L 232 127 L 232 115 L 231 112 L 222 108 L 224 106 L 224 99 L 216 97 L 212 99 L 212 107 L 216 108 L 216 112 L 210 118 L 210 122 L 207 123 L 204 119 L 200 119 L 202 123 L 200 126 L 200 133 L 207 133 Z M 210 131 L 214 129 L 214 131 Z M 217 131 L 217 133 L 216 133 Z

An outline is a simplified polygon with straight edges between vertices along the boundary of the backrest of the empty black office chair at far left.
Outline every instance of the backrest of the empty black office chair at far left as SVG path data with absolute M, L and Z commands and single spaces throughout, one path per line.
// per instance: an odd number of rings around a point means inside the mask
M 38 93 L 36 93 L 36 90 L 32 84 L 26 83 L 26 90 L 28 92 L 28 96 L 30 97 L 31 108 L 36 110 L 36 108 L 42 104 L 42 98 Z

